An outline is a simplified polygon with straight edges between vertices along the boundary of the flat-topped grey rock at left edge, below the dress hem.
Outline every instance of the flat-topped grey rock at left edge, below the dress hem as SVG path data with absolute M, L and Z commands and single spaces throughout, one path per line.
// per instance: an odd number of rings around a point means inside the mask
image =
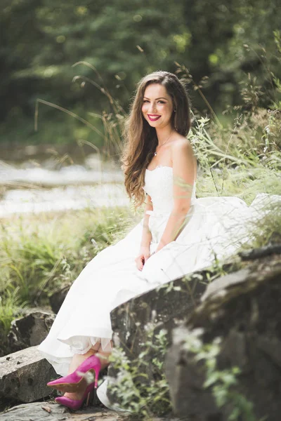
M 0 358 L 0 401 L 33 402 L 50 394 L 46 383 L 58 375 L 37 347 Z

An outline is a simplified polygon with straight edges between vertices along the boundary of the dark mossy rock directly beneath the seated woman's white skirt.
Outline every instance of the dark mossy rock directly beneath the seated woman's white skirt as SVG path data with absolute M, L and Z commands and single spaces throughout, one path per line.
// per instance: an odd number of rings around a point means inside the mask
M 152 342 L 155 343 L 156 335 L 164 329 L 168 344 L 170 344 L 174 327 L 179 321 L 183 321 L 199 302 L 206 288 L 203 282 L 205 278 L 206 272 L 185 276 L 165 283 L 148 293 L 138 295 L 113 309 L 111 319 L 112 330 L 115 332 L 114 345 L 121 347 L 130 360 L 138 359 L 143 352 L 143 344 L 148 342 L 148 333 L 151 328 L 153 329 Z M 150 352 L 142 356 L 142 361 L 145 362 L 142 372 L 148 376 L 147 380 L 142 377 L 143 382 L 150 382 L 159 375 L 159 370 L 152 364 L 155 356 L 160 363 L 164 360 L 164 356 L 157 354 L 153 347 Z M 108 375 L 117 376 L 114 365 L 110 365 Z M 116 396 L 112 396 L 110 392 L 107 395 L 111 401 L 119 403 Z

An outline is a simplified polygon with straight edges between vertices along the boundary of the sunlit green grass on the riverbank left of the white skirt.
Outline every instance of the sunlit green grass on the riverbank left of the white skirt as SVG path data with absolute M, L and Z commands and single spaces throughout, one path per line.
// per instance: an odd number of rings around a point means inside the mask
M 130 225 L 130 212 L 116 208 L 66 215 L 15 218 L 0 230 L 0 290 L 18 289 L 18 302 L 46 302 L 53 289 L 72 282 L 98 251 Z M 44 223 L 43 223 L 44 222 Z M 5 296 L 5 295 L 4 295 Z

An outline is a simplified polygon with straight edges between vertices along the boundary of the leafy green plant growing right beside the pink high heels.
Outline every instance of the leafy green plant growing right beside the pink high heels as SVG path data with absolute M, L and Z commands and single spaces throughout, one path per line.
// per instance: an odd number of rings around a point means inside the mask
M 118 347 L 113 349 L 110 356 L 118 370 L 117 379 L 110 382 L 110 390 L 116 396 L 117 405 L 128 410 L 138 420 L 152 420 L 156 415 L 171 410 L 169 386 L 163 372 L 166 332 L 160 330 L 156 334 L 152 323 L 145 330 L 147 340 L 142 344 L 143 350 L 136 359 L 129 359 Z

